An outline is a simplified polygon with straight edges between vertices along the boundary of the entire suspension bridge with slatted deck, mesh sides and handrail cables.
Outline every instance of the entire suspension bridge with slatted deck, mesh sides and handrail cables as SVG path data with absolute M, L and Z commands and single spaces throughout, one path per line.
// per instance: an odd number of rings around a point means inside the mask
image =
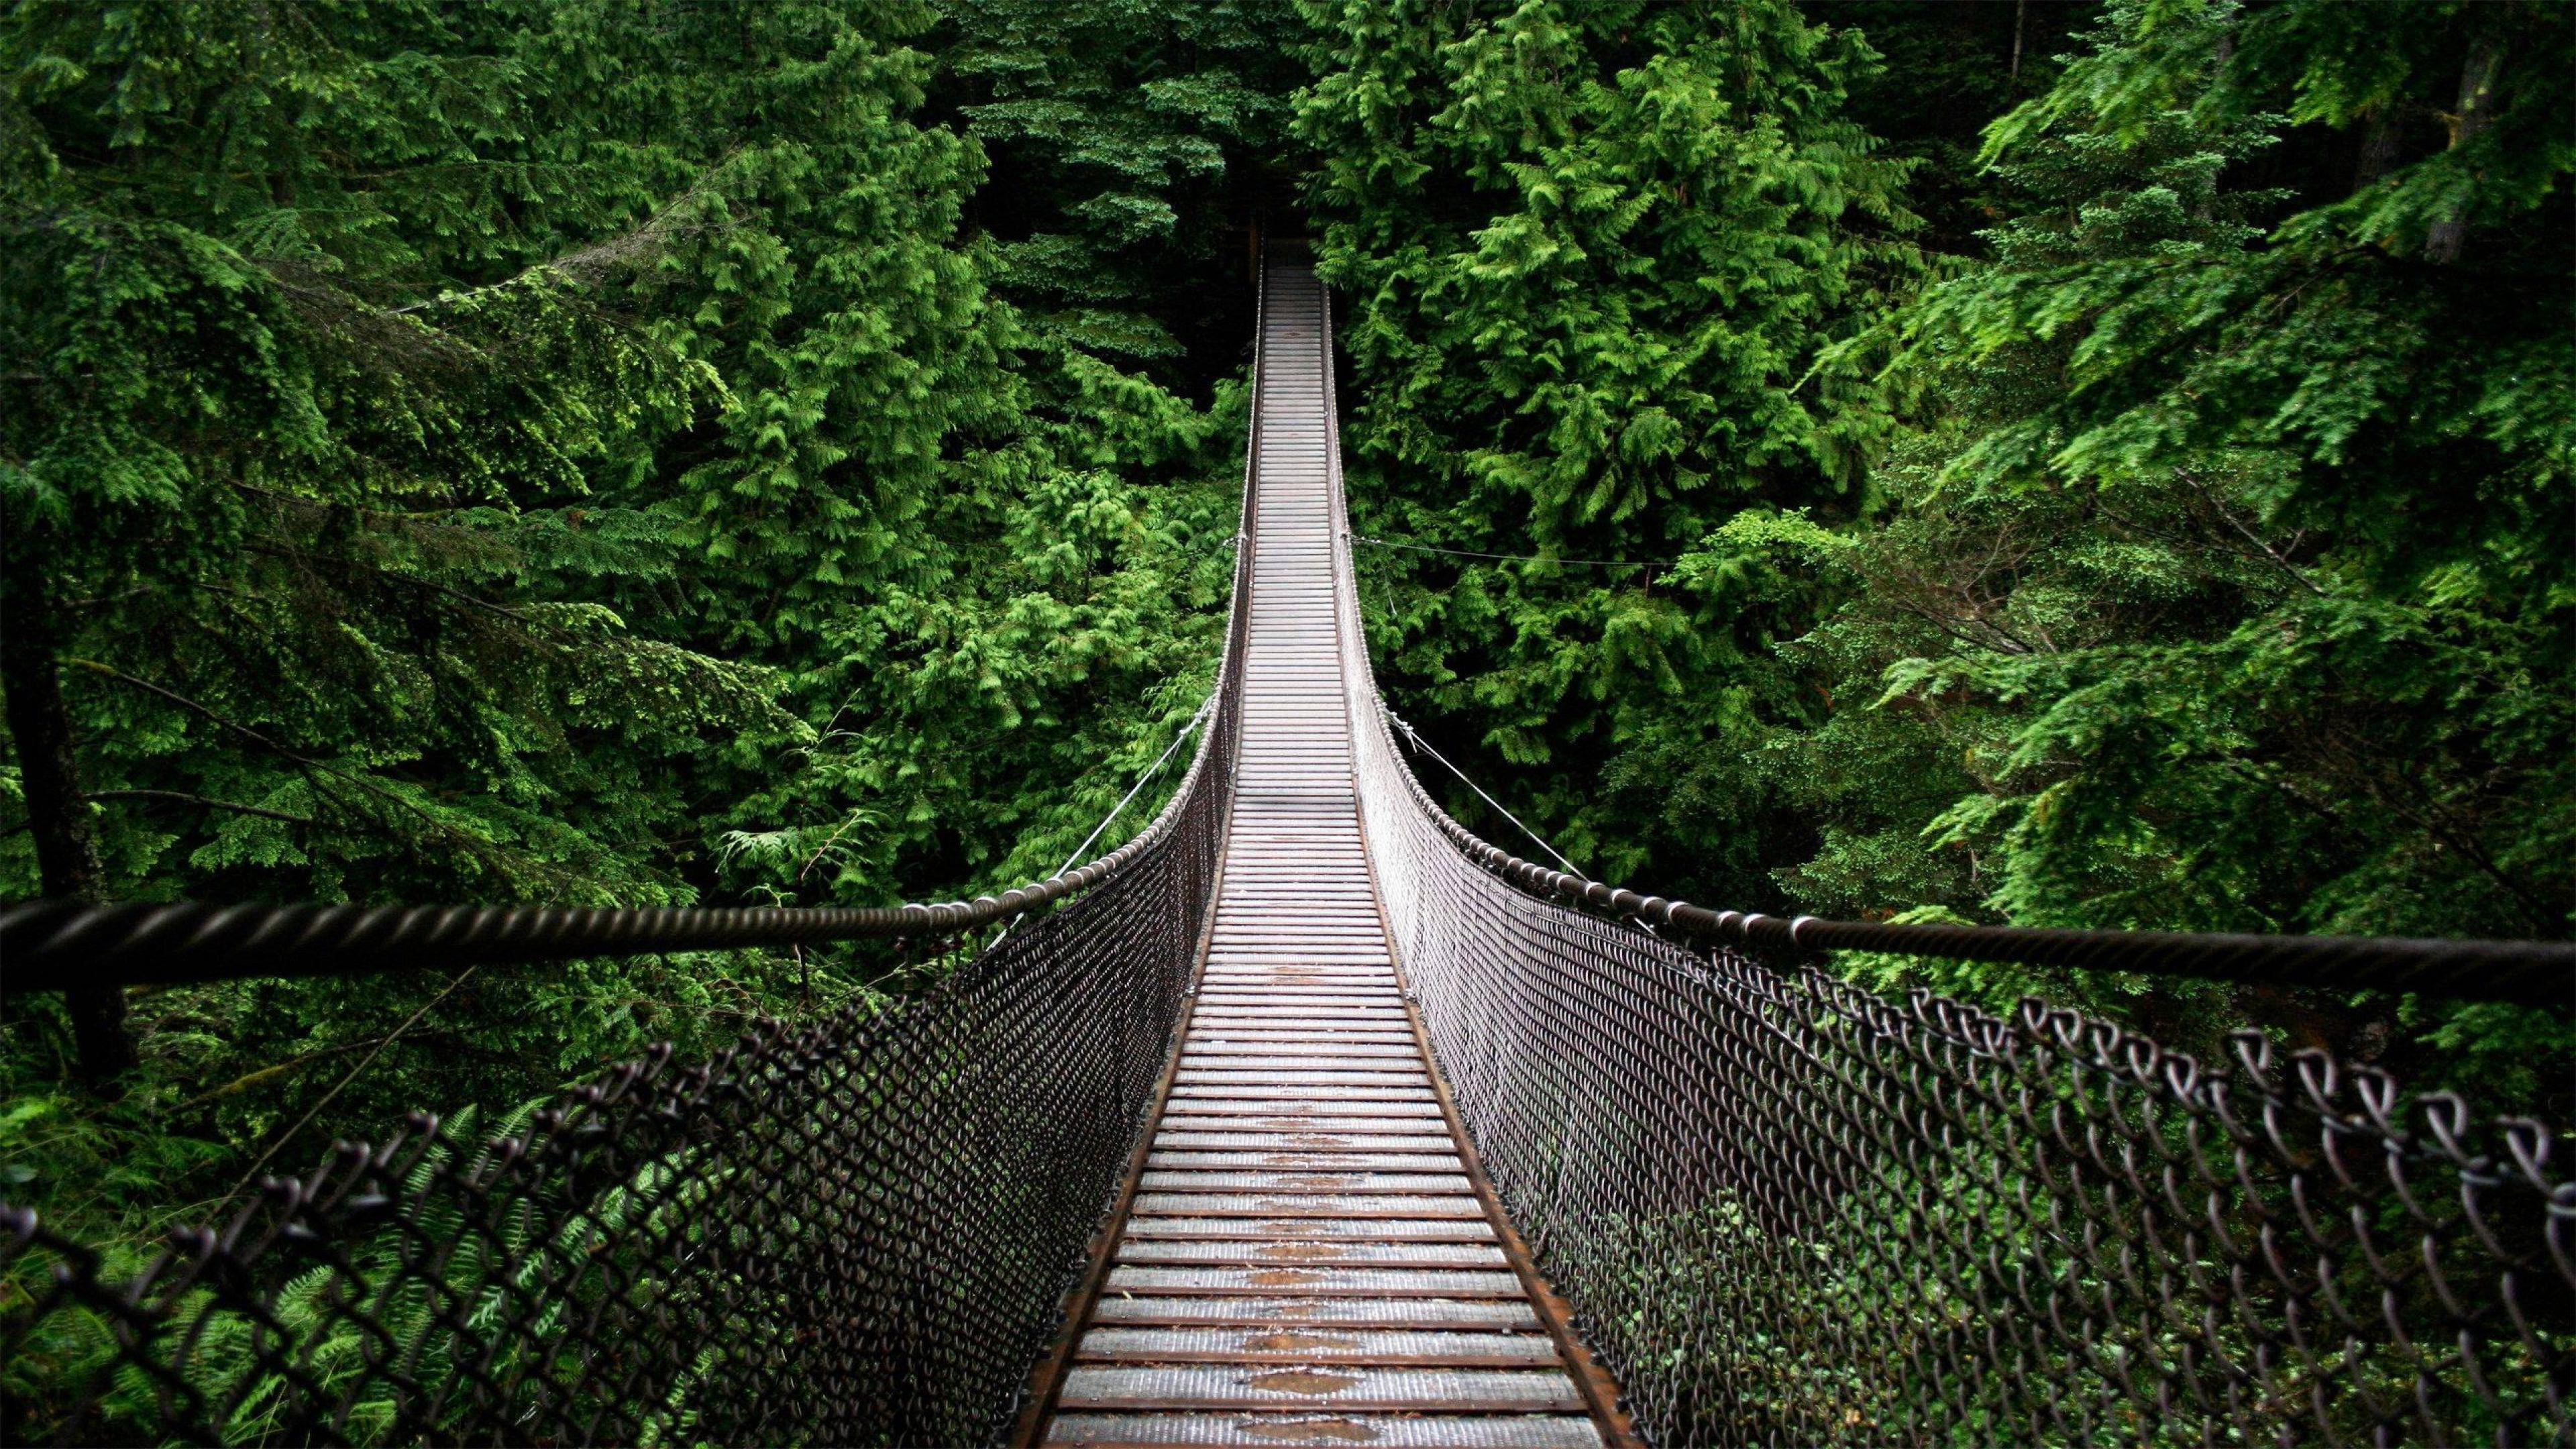
M 894 1011 L 415 1114 L 100 1250 L 5 1209 L 0 1439 L 2576 1444 L 2563 1127 L 1911 951 L 2566 1006 L 2555 944 L 1780 920 L 1450 820 L 1370 683 L 1311 268 L 1133 841 L 886 910 L 28 905 L 8 990 L 904 941 Z

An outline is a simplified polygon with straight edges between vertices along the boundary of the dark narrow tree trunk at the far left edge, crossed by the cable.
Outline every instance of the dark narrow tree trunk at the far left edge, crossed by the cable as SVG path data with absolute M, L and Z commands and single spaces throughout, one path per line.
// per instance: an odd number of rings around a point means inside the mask
M 90 838 L 90 804 L 80 797 L 80 771 L 72 761 L 72 714 L 62 706 L 62 670 L 54 663 L 57 619 L 44 596 L 41 559 L 23 544 L 26 539 L 10 549 L 0 572 L 0 606 L 5 606 L 0 694 L 8 696 L 8 730 L 18 743 L 36 874 L 49 900 L 95 902 L 103 871 L 98 843 Z M 103 1096 L 121 1096 L 116 1078 L 137 1060 L 134 1036 L 126 1031 L 124 987 L 80 985 L 64 993 L 64 1006 L 72 1013 L 80 1075 Z

